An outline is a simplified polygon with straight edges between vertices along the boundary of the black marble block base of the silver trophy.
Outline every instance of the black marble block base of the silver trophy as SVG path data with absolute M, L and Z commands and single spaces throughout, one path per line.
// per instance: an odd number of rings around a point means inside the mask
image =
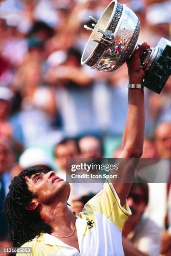
M 163 49 L 162 53 L 146 72 L 143 85 L 160 94 L 171 75 L 171 42 L 161 38 L 158 46 Z

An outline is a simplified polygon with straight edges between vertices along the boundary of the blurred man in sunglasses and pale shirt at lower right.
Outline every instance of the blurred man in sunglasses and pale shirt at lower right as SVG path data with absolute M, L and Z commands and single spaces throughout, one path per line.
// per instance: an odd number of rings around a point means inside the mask
M 143 212 L 148 204 L 148 184 L 137 177 L 139 184 L 132 184 L 128 206 L 132 215 L 122 230 L 123 249 L 126 256 L 158 256 L 161 244 L 161 229 Z

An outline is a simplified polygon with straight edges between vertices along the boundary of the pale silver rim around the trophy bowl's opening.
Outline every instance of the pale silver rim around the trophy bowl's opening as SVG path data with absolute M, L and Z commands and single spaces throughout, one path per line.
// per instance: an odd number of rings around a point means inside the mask
M 85 48 L 84 48 L 84 51 L 83 51 L 83 54 L 82 54 L 82 57 L 81 57 L 81 64 L 82 64 L 82 65 L 83 65 L 83 64 L 87 64 L 87 62 L 88 62 L 88 61 L 93 57 L 93 55 L 95 54 L 96 49 L 97 49 L 97 47 L 99 46 L 99 43 L 93 42 L 93 41 L 91 41 L 91 39 L 95 39 L 95 37 L 94 37 L 95 33 L 97 33 L 97 34 L 98 34 L 98 37 L 99 37 L 99 32 L 97 31 L 97 29 L 98 29 L 98 26 L 97 26 L 97 25 L 99 25 L 99 21 L 102 20 L 103 16 L 106 14 L 106 11 L 108 10 L 108 8 L 109 8 L 111 5 L 113 5 L 113 3 L 114 3 L 113 11 L 112 11 L 111 16 L 110 16 L 110 18 L 109 18 L 109 20 L 108 20 L 107 25 L 105 26 L 105 28 L 104 28 L 103 30 L 106 31 L 106 30 L 109 28 L 109 26 L 111 25 L 111 21 L 113 20 L 113 15 L 115 14 L 116 8 L 117 8 L 117 5 L 118 5 L 118 1 L 117 1 L 117 0 L 111 1 L 111 3 L 106 7 L 106 9 L 105 9 L 104 12 L 102 13 L 101 17 L 99 18 L 98 23 L 97 23 L 96 26 L 94 27 L 94 29 L 93 29 L 93 31 L 92 31 L 92 33 L 91 33 L 89 39 L 88 39 L 88 42 L 87 42 L 87 44 L 85 45 Z M 99 25 L 99 27 L 100 27 L 100 25 Z M 97 38 L 97 40 L 98 40 L 98 38 Z M 91 43 L 91 44 L 94 44 L 94 46 L 92 47 L 91 53 L 88 55 L 88 57 L 85 58 L 84 55 L 85 55 L 86 50 L 90 47 L 90 43 Z

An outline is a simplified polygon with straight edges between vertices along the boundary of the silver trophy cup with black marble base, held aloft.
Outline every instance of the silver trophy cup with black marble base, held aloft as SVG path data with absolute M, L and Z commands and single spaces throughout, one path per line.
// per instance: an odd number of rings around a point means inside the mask
M 111 1 L 99 20 L 93 20 L 92 31 L 81 58 L 81 64 L 103 72 L 112 72 L 123 65 L 137 49 L 140 22 L 126 5 Z M 146 71 L 143 85 L 158 94 L 171 74 L 171 41 L 161 38 L 158 45 L 141 55 Z

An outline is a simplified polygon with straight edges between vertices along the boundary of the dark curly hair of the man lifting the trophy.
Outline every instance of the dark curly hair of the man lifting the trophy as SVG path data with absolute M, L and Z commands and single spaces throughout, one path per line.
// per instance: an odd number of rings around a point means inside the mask
M 43 223 L 36 211 L 28 211 L 25 206 L 37 195 L 28 190 L 25 177 L 36 173 L 47 173 L 40 168 L 28 168 L 14 177 L 4 202 L 5 215 L 10 228 L 10 237 L 14 247 L 22 246 L 40 233 L 52 233 L 50 225 Z

